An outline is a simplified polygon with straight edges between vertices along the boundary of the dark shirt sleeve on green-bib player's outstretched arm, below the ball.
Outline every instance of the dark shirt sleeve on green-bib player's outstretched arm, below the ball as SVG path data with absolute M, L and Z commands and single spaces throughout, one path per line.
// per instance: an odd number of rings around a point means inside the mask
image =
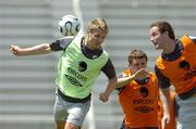
M 50 48 L 52 51 L 62 51 L 68 48 L 68 46 L 72 42 L 74 37 L 65 37 L 62 39 L 58 39 L 50 43 Z

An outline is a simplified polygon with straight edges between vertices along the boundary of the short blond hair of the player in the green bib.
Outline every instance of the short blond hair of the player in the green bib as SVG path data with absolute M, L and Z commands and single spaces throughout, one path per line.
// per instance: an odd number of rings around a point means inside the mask
M 101 17 L 93 20 L 87 25 L 87 31 L 94 31 L 97 29 L 100 29 L 101 31 L 106 33 L 106 35 L 108 35 L 108 31 L 109 31 L 108 25 L 106 21 Z

